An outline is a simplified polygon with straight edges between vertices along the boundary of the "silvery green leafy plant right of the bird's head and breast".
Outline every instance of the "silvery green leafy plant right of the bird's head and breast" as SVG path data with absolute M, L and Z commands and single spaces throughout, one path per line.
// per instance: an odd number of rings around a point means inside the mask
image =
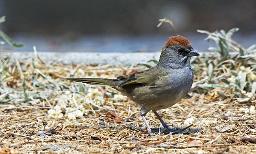
M 237 32 L 239 28 L 232 28 L 227 33 L 224 30 L 215 31 L 210 33 L 205 30 L 197 30 L 199 33 L 205 33 L 208 36 L 206 40 L 215 41 L 216 46 L 210 46 L 210 50 L 215 55 L 203 55 L 204 65 L 208 71 L 208 83 L 198 85 L 199 87 L 207 90 L 215 88 L 219 89 L 232 89 L 236 97 L 255 97 L 256 92 L 256 45 L 249 48 L 243 48 L 239 43 L 232 40 L 232 35 Z M 228 72 L 223 70 L 228 68 Z M 218 76 L 223 75 L 219 79 L 226 86 L 214 84 L 217 82 L 213 80 Z M 212 83 L 212 84 L 209 84 Z M 217 91 L 221 97 L 226 98 L 226 95 Z

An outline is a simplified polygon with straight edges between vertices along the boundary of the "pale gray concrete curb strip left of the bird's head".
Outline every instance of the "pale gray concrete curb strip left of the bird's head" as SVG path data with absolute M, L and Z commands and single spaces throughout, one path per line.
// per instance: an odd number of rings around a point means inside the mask
M 0 52 L 0 55 L 11 55 L 11 59 L 24 60 L 35 57 L 34 52 Z M 147 63 L 151 59 L 158 60 L 160 52 L 155 53 L 93 53 L 93 52 L 37 52 L 43 61 L 61 60 L 62 63 L 95 63 L 113 65 L 136 65 Z

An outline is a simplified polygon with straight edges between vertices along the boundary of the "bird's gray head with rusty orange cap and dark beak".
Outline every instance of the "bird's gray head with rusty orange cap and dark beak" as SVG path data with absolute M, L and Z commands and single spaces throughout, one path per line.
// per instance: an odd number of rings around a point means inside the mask
M 191 47 L 191 43 L 183 36 L 172 36 L 162 49 L 158 64 L 168 65 L 172 68 L 183 68 L 190 66 L 191 56 L 199 56 Z

